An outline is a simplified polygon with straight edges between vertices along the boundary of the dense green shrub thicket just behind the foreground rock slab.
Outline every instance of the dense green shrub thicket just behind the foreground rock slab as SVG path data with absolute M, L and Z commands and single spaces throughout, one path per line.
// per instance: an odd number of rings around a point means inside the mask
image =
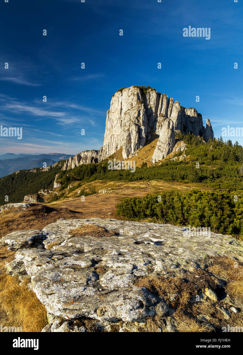
M 158 199 L 158 196 L 160 198 Z M 127 197 L 117 204 L 117 214 L 128 219 L 155 218 L 164 223 L 210 227 L 217 233 L 243 235 L 243 195 L 192 190 L 160 195 Z

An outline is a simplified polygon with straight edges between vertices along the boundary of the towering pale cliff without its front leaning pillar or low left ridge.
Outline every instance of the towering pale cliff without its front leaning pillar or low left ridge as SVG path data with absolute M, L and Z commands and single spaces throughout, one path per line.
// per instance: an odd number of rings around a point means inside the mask
M 209 137 L 213 138 L 210 121 L 205 129 L 202 115 L 196 109 L 186 109 L 178 101 L 174 102 L 171 97 L 168 99 L 166 94 L 160 94 L 155 89 L 149 89 L 145 94 L 140 88 L 131 86 L 120 89 L 112 97 L 99 161 L 120 148 L 124 159 L 132 157 L 137 149 L 144 147 L 151 130 L 160 134 L 165 118 L 173 121 L 174 130 L 192 132 L 196 136 L 203 136 L 206 141 Z M 169 138 L 173 140 L 173 137 Z M 160 150 L 158 147 L 157 157 Z

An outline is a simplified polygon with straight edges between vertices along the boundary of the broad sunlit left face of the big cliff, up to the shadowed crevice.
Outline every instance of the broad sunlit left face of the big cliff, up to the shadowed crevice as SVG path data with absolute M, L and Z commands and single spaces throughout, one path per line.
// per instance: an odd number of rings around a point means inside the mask
M 143 98 L 140 89 L 134 86 L 124 88 L 113 95 L 110 109 L 107 111 L 104 144 L 99 161 L 121 147 L 123 158 L 128 158 L 145 145 L 150 132 L 148 122 L 153 121 L 154 116 L 152 107 L 146 107 L 146 102 L 151 102 L 152 105 L 156 98 L 153 95 L 148 99 Z

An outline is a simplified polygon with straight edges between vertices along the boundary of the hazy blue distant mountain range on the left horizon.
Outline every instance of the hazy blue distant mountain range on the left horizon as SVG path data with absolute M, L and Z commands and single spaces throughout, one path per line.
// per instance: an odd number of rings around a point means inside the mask
M 43 168 L 44 163 L 46 163 L 46 166 L 53 165 L 60 160 L 66 160 L 73 156 L 63 153 L 5 153 L 0 155 L 0 178 L 18 170 Z

